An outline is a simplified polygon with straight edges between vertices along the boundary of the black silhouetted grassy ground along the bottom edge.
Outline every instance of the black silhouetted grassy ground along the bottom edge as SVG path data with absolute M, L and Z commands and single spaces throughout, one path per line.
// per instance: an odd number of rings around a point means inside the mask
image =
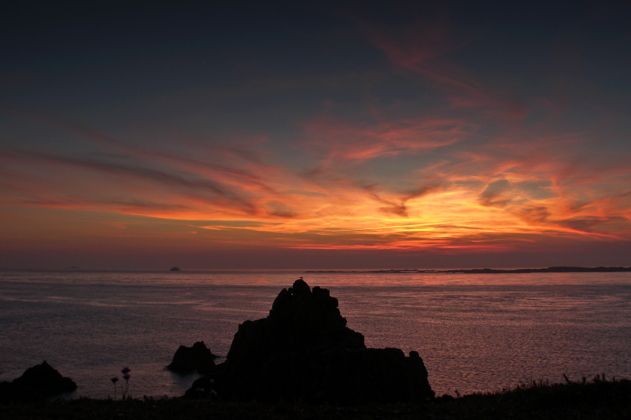
M 163 399 L 75 399 L 0 405 L 0 419 L 631 419 L 631 381 L 536 383 L 428 404 L 310 405 Z

